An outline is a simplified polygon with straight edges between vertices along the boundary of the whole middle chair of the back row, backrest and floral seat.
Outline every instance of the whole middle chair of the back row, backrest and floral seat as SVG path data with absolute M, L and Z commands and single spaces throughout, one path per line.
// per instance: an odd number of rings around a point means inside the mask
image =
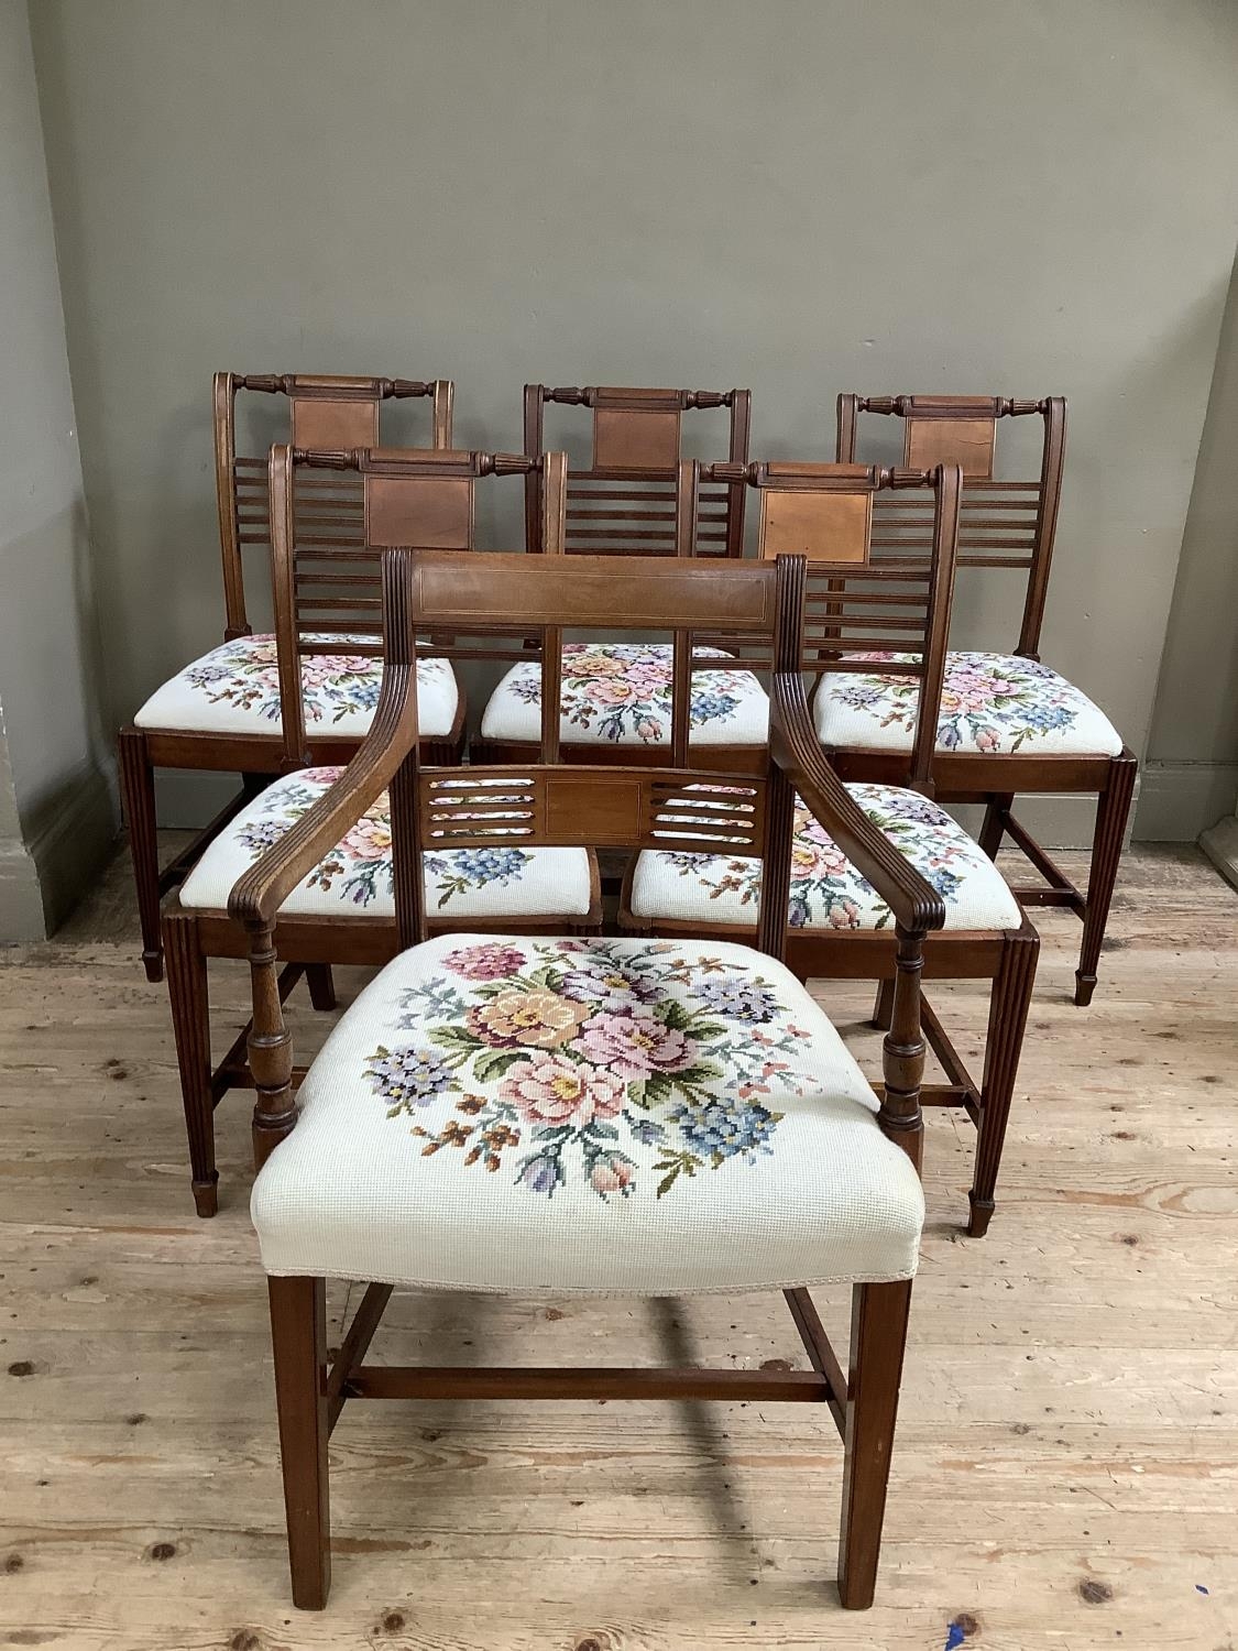
M 525 385 L 525 452 L 545 446 L 546 406 L 588 408 L 593 446 L 588 467 L 568 477 L 565 550 L 593 556 L 675 555 L 675 477 L 683 414 L 728 414 L 731 462 L 748 459 L 751 396 L 746 390 L 548 388 Z M 541 550 L 538 477 L 525 480 L 525 548 Z M 735 560 L 744 548 L 744 489 L 710 487 L 698 500 L 693 555 Z M 616 576 L 622 578 L 621 568 Z M 670 735 L 670 649 L 649 641 L 594 637 L 563 652 L 563 755 L 588 763 L 664 763 Z M 527 761 L 538 743 L 541 667 L 515 664 L 490 695 L 472 743 L 477 761 Z M 715 745 L 718 761 L 759 768 L 769 708 L 754 677 L 702 672 L 693 682 L 692 721 Z

